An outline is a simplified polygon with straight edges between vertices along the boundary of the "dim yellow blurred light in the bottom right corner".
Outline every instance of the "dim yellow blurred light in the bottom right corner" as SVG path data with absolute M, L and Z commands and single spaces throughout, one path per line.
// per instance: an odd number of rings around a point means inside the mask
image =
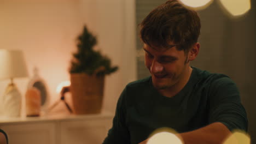
M 251 139 L 244 131 L 236 130 L 225 140 L 223 144 L 250 144 Z

